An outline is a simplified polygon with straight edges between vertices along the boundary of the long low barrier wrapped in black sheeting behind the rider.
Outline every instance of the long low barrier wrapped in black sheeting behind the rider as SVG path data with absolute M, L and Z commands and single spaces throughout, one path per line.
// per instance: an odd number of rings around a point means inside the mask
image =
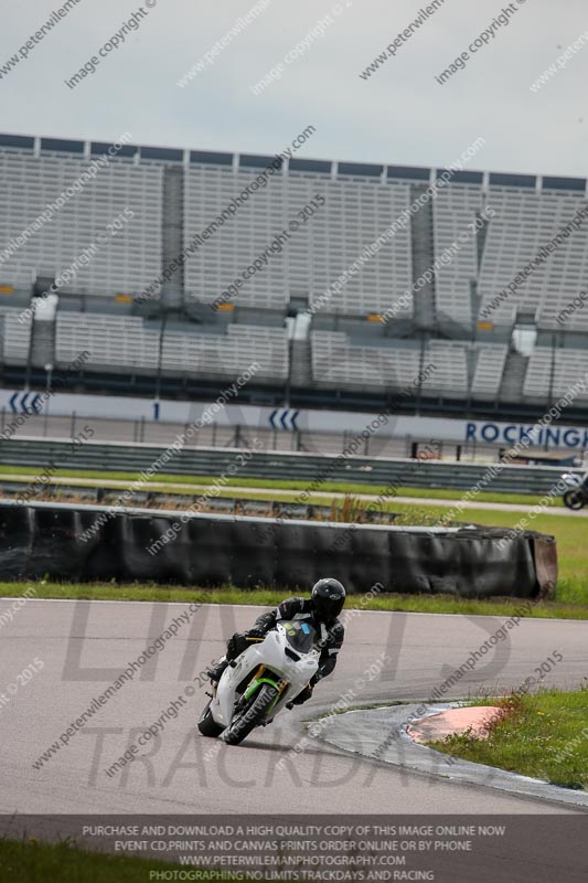
M 308 589 L 321 576 L 350 592 L 538 598 L 557 579 L 553 536 L 504 546 L 496 528 L 394 528 L 238 515 L 0 503 L 3 579 L 153 581 Z M 171 525 L 177 524 L 175 530 Z M 163 542 L 168 535 L 169 542 Z M 160 541 L 156 554 L 153 543 Z

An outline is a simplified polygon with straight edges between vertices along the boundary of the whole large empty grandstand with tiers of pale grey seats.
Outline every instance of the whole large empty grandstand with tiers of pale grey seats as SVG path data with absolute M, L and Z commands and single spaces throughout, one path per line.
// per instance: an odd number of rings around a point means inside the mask
M 79 390 L 209 395 L 258 362 L 253 401 L 374 407 L 432 364 L 421 413 L 525 415 L 588 371 L 588 310 L 558 320 L 584 290 L 588 222 L 507 288 L 586 205 L 585 179 L 459 171 L 410 214 L 441 169 L 291 158 L 228 212 L 274 157 L 125 145 L 73 190 L 108 147 L 0 135 L 6 384 L 88 350 Z M 31 309 L 47 290 L 53 312 Z

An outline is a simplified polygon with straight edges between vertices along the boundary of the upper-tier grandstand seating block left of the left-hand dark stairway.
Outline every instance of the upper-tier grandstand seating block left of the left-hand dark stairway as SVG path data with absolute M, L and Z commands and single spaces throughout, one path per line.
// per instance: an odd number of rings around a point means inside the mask
M 157 278 L 161 272 L 162 169 L 124 160 L 100 169 L 82 192 L 71 191 L 65 204 L 53 217 L 41 219 L 41 228 L 32 231 L 14 254 L 2 254 L 86 168 L 87 163 L 71 157 L 0 150 L 2 285 L 28 287 L 35 273 L 58 277 L 100 233 L 106 233 L 108 241 L 86 263 L 79 260 L 75 279 L 64 285 L 63 291 L 104 291 L 110 297 L 117 291 L 136 294 Z M 111 236 L 107 225 L 127 208 L 135 216 Z

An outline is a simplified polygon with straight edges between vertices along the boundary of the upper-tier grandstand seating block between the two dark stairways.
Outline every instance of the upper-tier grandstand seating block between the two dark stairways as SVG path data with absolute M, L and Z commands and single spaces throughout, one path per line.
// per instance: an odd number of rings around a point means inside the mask
M 232 199 L 252 182 L 256 171 L 226 167 L 192 167 L 185 178 L 184 245 L 205 230 Z M 298 212 L 320 193 L 325 204 L 306 223 Z M 218 225 L 206 242 L 189 255 L 185 290 L 190 298 L 214 301 L 261 255 L 276 235 L 289 234 L 281 254 L 270 256 L 232 298 L 239 306 L 284 309 L 291 297 L 312 304 L 389 227 L 409 204 L 403 183 L 378 187 L 377 181 L 325 174 L 276 174 L 240 205 L 233 219 Z M 289 232 L 290 221 L 300 227 Z M 324 312 L 383 312 L 411 284 L 409 227 L 399 230 L 352 276 Z

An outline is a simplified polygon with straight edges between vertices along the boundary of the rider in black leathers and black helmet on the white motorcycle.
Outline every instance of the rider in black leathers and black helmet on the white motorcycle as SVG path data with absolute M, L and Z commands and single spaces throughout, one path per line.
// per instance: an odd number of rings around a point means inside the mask
M 312 587 L 310 598 L 286 598 L 274 610 L 261 614 L 255 620 L 255 626 L 248 631 L 236 631 L 227 641 L 226 656 L 209 669 L 211 681 L 218 683 L 229 662 L 250 647 L 253 642 L 263 641 L 268 631 L 276 627 L 279 619 L 306 620 L 319 635 L 321 656 L 319 669 L 310 679 L 307 687 L 292 700 L 293 705 L 301 705 L 312 695 L 314 685 L 331 674 L 336 664 L 336 655 L 343 646 L 345 629 L 338 619 L 345 604 L 345 588 L 338 579 L 325 577 L 319 579 Z

